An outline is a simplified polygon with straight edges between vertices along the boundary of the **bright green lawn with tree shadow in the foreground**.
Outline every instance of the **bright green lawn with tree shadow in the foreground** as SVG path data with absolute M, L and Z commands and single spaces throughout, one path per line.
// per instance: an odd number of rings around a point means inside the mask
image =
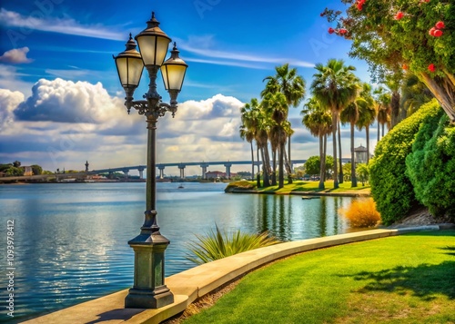
M 184 323 L 455 323 L 455 231 L 278 261 Z

